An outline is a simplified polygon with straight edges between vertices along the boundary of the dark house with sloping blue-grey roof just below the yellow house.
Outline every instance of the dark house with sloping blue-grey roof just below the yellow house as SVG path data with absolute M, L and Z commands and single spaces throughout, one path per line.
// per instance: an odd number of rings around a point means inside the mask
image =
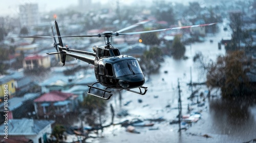
M 24 97 L 13 97 L 8 100 L 8 119 L 27 117 L 28 113 L 34 111 L 33 100 L 40 96 L 40 93 L 28 93 Z M 0 104 L 0 122 L 4 119 L 5 104 Z

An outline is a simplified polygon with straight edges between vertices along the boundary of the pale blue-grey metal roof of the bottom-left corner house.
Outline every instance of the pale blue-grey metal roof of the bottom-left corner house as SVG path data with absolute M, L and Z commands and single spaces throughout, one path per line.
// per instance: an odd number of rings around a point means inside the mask
M 33 120 L 28 118 L 12 119 L 8 122 L 8 135 L 36 135 L 48 125 L 53 124 L 53 120 Z M 4 124 L 0 129 L 5 129 Z M 0 130 L 0 134 L 4 134 L 4 130 Z

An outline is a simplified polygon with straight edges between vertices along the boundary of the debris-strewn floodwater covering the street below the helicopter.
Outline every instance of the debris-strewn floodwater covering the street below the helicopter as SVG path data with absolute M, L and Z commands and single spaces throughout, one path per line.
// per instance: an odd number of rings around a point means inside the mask
M 212 92 L 217 98 L 207 98 L 208 90 L 205 85 L 193 87 L 194 91 L 199 90 L 198 95 L 202 93 L 203 96 L 194 100 L 187 99 L 191 94 L 191 88 L 187 85 L 190 82 L 190 67 L 193 82 L 205 81 L 205 75 L 198 68 L 199 64 L 193 62 L 195 53 L 202 52 L 205 58 L 216 60 L 219 54 L 225 54 L 223 45 L 221 50 L 218 49 L 218 42 L 221 37 L 229 34 L 222 31 L 207 36 L 205 42 L 187 45 L 187 60 L 177 61 L 172 57 L 165 57 L 159 73 L 151 75 L 150 80 L 144 84 L 148 87 L 144 96 L 122 91 L 121 106 L 118 94 L 110 101 L 115 113 L 124 109 L 129 113 L 125 117 L 115 117 L 115 123 L 133 118 L 145 120 L 163 117 L 165 121 L 153 122 L 155 125 L 152 127 L 136 127 L 140 134 L 126 132 L 121 125 L 112 125 L 104 128 L 104 137 L 95 138 L 92 142 L 245 142 L 256 138 L 255 102 L 223 101 L 218 98 L 218 91 Z M 213 42 L 209 42 L 210 39 Z M 187 130 L 181 132 L 178 132 L 178 124 L 169 124 L 170 121 L 177 120 L 178 115 L 178 78 L 182 90 L 182 114 L 187 114 L 188 105 L 193 108 L 191 112 L 201 113 L 197 123 L 184 125 Z M 139 100 L 142 102 L 138 102 Z M 204 103 L 204 106 L 199 107 L 195 104 L 197 101 Z M 129 104 L 124 106 L 127 102 Z M 111 118 L 111 113 L 108 118 Z

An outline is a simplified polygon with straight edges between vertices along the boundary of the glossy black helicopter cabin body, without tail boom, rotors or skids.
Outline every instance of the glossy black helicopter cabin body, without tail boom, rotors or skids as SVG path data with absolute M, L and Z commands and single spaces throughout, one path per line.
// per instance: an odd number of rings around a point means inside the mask
M 145 83 L 139 62 L 132 56 L 120 55 L 118 49 L 95 46 L 94 71 L 97 81 L 112 89 L 132 89 Z M 102 53 L 102 54 L 99 54 Z

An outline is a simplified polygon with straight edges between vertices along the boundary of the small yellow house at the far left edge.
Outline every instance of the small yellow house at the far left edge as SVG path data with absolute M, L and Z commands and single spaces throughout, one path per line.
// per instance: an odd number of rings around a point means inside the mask
M 3 99 L 6 94 L 13 96 L 15 94 L 15 80 L 10 76 L 0 77 L 0 98 Z M 7 91 L 7 92 L 6 92 Z

